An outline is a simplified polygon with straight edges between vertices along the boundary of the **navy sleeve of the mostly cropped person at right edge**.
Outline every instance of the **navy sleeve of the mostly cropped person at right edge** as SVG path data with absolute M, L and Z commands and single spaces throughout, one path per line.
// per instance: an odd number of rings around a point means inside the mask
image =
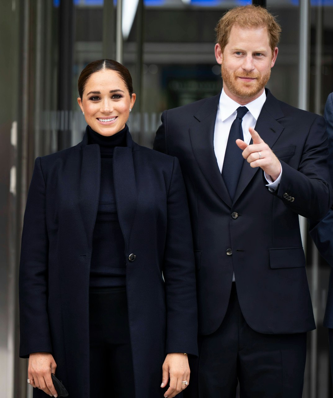
M 324 119 L 327 125 L 328 134 L 328 166 L 333 180 L 333 93 L 329 94 L 324 111 Z M 333 240 L 331 232 L 333 230 L 333 208 L 325 215 L 322 220 L 308 220 L 309 233 L 314 240 L 319 253 L 333 267 Z

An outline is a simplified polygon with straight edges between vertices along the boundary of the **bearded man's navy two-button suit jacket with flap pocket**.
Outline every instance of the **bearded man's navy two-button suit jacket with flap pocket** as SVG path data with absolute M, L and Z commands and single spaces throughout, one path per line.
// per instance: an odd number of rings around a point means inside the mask
M 155 138 L 154 149 L 178 157 L 186 184 L 201 334 L 221 324 L 233 272 L 252 329 L 277 334 L 315 328 L 298 215 L 319 219 L 332 204 L 325 121 L 266 94 L 256 131 L 282 164 L 273 193 L 262 170 L 244 161 L 231 201 L 213 147 L 220 94 L 163 112 Z

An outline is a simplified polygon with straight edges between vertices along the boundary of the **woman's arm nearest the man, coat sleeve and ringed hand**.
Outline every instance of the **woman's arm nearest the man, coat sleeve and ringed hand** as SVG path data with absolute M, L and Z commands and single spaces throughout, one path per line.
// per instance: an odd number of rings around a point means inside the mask
M 164 396 L 172 398 L 184 390 L 190 381 L 188 356 L 184 353 L 198 355 L 192 231 L 184 180 L 176 158 L 168 188 L 167 219 L 163 259 L 167 306 L 167 356 L 162 367 L 161 387 L 165 388 L 169 382 Z

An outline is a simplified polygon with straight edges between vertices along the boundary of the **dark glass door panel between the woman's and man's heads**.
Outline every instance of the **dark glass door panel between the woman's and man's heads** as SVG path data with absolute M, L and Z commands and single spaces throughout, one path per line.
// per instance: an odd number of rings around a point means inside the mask
M 226 10 L 222 3 L 214 8 L 182 2 L 145 8 L 142 105 L 141 112 L 134 109 L 130 120 L 131 131 L 139 135 L 141 144 L 152 146 L 163 110 L 221 90 L 214 28 Z M 129 41 L 134 34 L 130 33 Z M 129 53 L 124 54 L 124 62 L 130 62 Z

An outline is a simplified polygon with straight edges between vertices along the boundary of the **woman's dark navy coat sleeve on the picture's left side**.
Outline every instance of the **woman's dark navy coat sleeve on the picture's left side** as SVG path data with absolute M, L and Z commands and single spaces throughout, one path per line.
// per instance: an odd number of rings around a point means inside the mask
M 22 358 L 29 357 L 33 352 L 52 352 L 47 315 L 48 234 L 45 191 L 41 158 L 37 158 L 24 213 L 19 267 L 19 355 Z

